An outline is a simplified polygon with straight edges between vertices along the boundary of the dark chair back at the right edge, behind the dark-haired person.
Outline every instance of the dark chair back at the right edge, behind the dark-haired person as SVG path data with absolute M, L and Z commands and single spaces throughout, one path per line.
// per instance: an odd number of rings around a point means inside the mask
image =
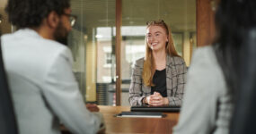
M 243 44 L 241 83 L 234 104 L 230 134 L 256 133 L 256 29 L 253 29 Z

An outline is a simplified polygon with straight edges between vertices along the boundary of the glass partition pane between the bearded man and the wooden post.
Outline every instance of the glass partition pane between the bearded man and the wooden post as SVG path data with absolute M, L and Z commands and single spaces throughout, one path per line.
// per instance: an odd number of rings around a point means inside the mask
M 69 36 L 74 56 L 74 72 L 86 102 L 112 105 L 115 54 L 115 0 L 71 0 L 78 18 Z

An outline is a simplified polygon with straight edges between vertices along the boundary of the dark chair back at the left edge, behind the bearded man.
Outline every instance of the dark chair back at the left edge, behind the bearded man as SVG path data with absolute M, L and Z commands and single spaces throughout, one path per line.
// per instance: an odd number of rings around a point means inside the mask
M 13 101 L 8 88 L 0 38 L 0 134 L 18 134 Z

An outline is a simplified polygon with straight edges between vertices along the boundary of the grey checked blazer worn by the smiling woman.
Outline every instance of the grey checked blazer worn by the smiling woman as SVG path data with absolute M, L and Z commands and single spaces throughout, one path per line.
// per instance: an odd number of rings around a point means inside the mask
M 142 105 L 142 99 L 151 95 L 151 87 L 146 87 L 142 79 L 144 58 L 138 59 L 134 65 L 129 88 L 130 105 Z M 178 56 L 166 56 L 166 88 L 169 105 L 181 105 L 184 85 L 187 81 L 187 67 Z

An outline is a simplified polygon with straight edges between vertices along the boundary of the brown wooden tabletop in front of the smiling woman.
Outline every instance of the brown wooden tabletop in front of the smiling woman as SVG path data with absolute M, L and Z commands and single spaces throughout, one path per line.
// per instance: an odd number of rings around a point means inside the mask
M 165 113 L 164 118 L 127 118 L 114 117 L 114 114 L 130 111 L 129 106 L 99 105 L 108 134 L 157 133 L 172 134 L 172 128 L 179 119 L 179 113 Z

